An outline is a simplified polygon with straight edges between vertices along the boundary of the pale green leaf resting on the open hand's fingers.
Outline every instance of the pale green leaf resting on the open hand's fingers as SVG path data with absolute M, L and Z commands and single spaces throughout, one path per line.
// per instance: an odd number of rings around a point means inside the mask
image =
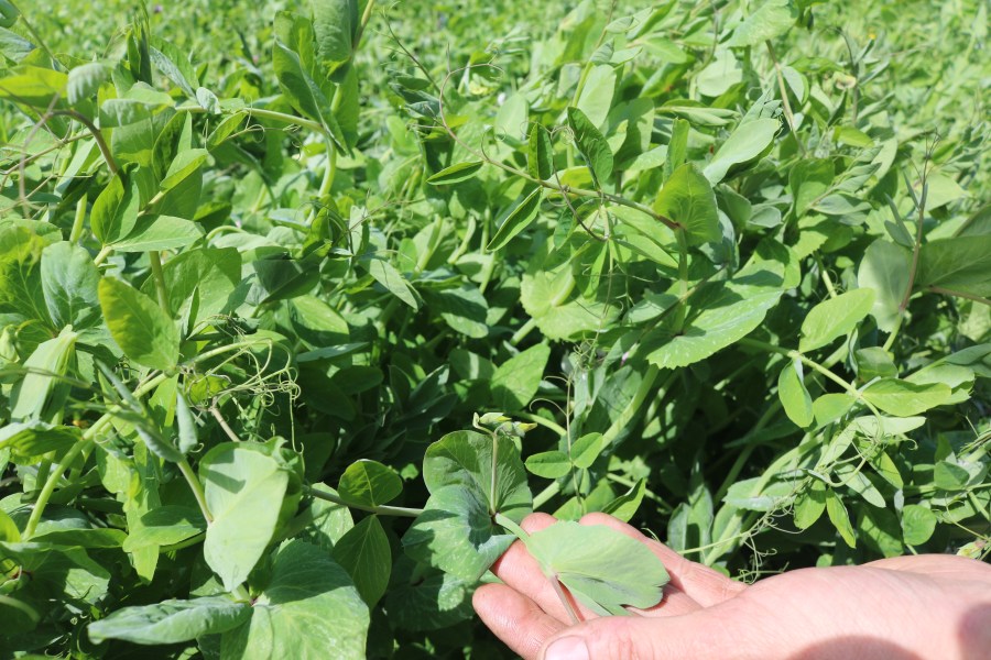
M 629 615 L 661 602 L 668 581 L 661 560 L 643 543 L 602 525 L 558 521 L 525 539 L 548 580 L 601 615 Z

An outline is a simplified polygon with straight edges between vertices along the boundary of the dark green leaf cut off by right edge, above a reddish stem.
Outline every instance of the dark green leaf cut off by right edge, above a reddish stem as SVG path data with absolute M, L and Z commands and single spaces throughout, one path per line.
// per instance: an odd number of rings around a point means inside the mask
M 918 253 L 916 286 L 991 297 L 991 234 L 939 239 Z

